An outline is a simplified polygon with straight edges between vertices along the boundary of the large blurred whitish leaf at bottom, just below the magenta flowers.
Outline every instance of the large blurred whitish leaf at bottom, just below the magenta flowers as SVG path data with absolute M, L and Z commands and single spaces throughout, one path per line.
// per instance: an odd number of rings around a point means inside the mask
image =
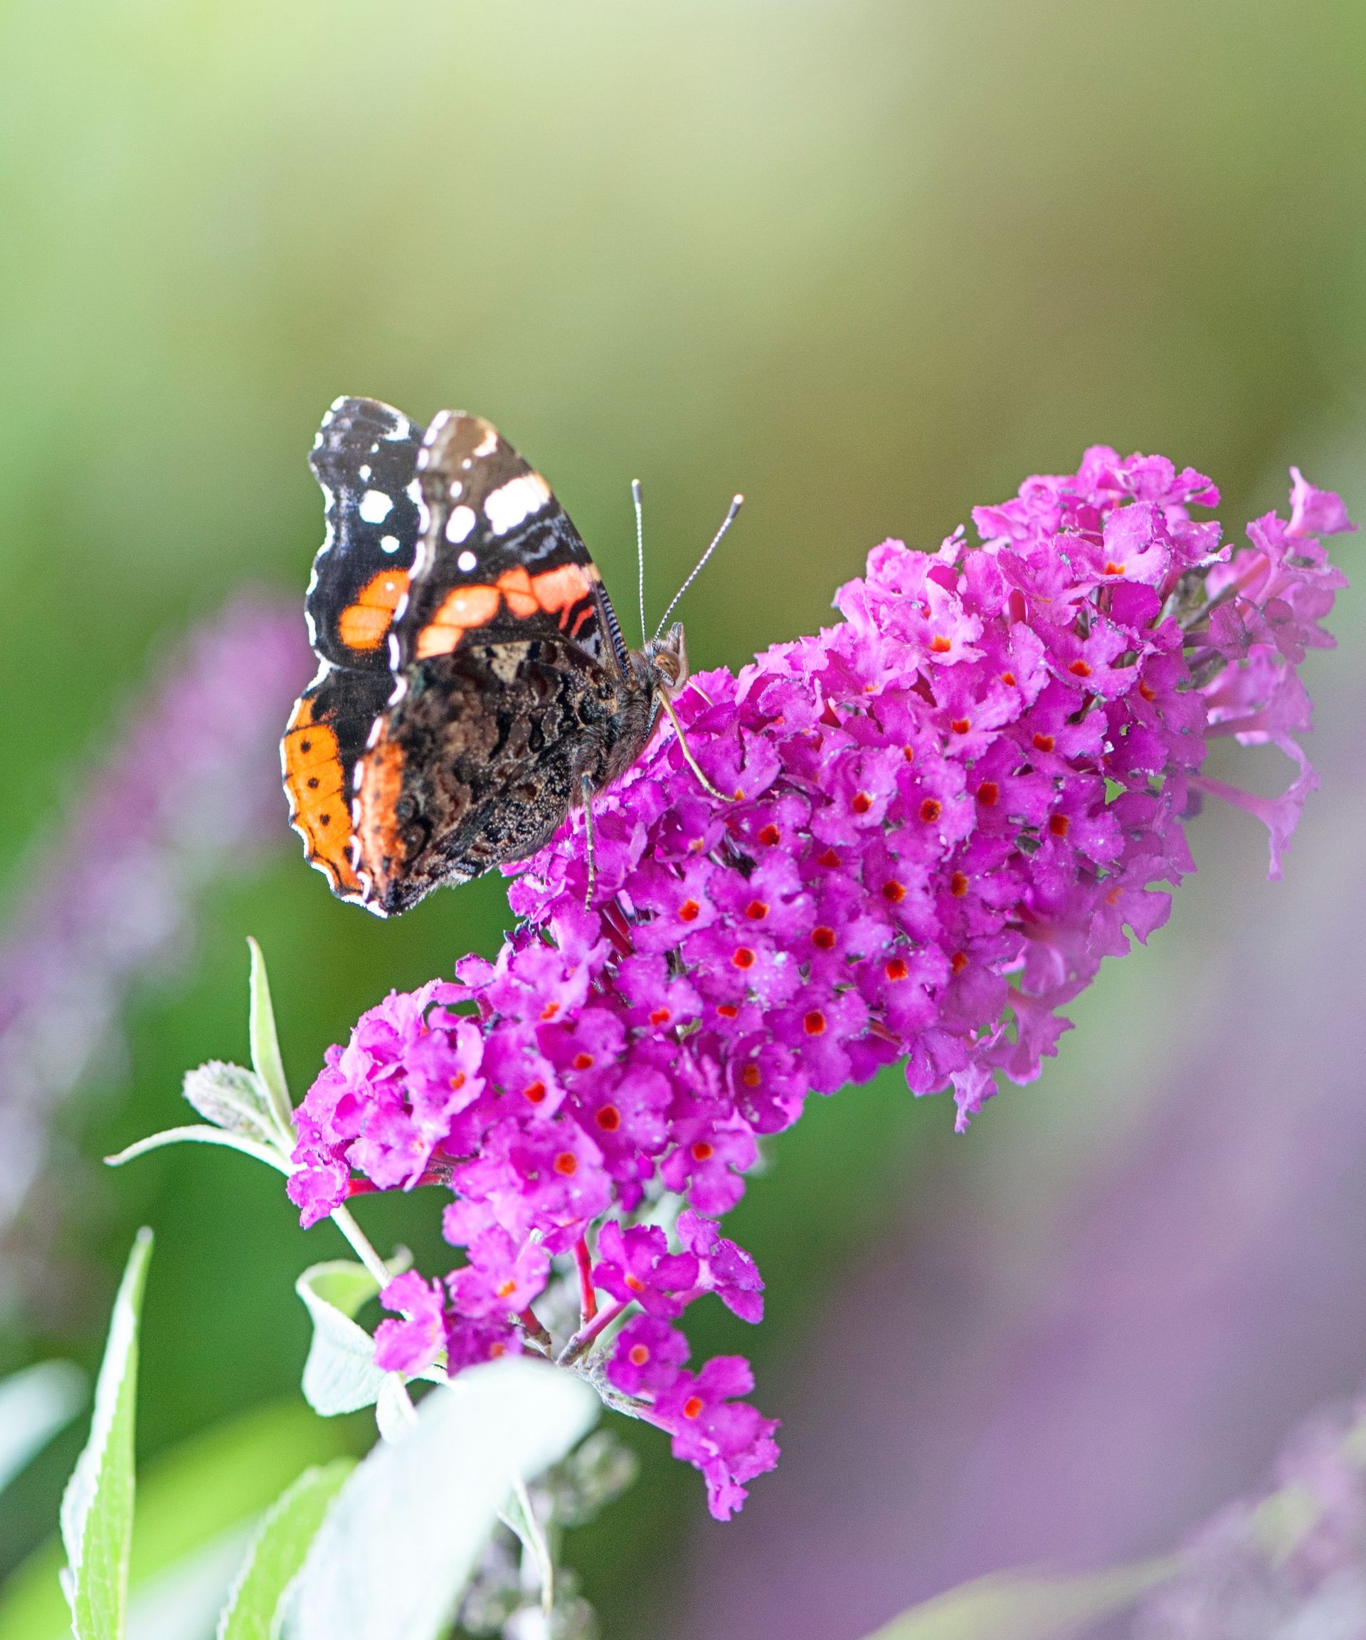
M 438 1640 L 515 1479 L 587 1432 L 600 1402 L 546 1363 L 510 1358 L 433 1389 L 328 1510 L 289 1602 L 287 1640 Z

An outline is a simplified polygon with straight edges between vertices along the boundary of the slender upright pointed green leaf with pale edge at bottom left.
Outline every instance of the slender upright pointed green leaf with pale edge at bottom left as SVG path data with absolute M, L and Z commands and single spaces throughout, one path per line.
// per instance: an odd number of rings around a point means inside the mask
M 77 1640 L 123 1640 L 133 1547 L 133 1425 L 138 1401 L 138 1320 L 151 1230 L 139 1230 L 113 1301 L 95 1384 L 90 1440 L 62 1494 L 62 1588 Z

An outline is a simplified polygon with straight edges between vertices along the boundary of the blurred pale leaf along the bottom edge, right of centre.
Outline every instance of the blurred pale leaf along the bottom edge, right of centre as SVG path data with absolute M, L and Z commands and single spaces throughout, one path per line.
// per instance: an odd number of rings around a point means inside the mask
M 1169 1556 L 1074 1578 L 992 1573 L 912 1606 L 867 1640 L 1061 1640 L 1125 1610 L 1177 1568 Z

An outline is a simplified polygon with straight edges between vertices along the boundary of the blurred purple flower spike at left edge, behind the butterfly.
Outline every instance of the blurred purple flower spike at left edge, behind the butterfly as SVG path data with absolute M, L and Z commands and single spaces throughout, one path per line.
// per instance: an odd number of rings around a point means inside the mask
M 54 1109 L 116 1043 L 133 981 L 182 948 L 195 894 L 284 841 L 274 746 L 308 664 L 292 607 L 228 605 L 23 871 L 0 943 L 0 1235 L 43 1169 Z

